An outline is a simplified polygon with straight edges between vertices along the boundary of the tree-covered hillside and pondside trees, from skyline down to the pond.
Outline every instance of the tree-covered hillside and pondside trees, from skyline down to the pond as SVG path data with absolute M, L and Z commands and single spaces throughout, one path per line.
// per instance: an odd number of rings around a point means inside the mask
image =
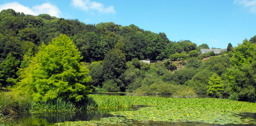
M 220 55 L 199 55 L 207 44 L 170 41 L 135 25 L 92 25 L 13 9 L 2 10 L 0 20 L 1 90 L 25 90 L 35 101 L 79 102 L 91 89 L 256 101 L 256 36 L 237 47 L 229 43 Z M 165 60 L 140 62 L 147 58 Z

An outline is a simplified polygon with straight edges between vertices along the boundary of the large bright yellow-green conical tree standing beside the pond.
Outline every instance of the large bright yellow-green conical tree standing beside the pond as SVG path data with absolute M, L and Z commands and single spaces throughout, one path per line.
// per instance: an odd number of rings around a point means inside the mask
M 88 69 L 80 64 L 80 53 L 66 35 L 49 45 L 42 45 L 30 65 L 21 70 L 21 81 L 13 91 L 33 97 L 35 101 L 58 98 L 80 101 L 91 89 Z

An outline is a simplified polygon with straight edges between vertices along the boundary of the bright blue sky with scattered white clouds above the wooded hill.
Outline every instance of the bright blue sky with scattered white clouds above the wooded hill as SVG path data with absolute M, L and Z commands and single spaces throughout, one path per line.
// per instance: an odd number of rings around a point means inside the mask
M 226 48 L 256 35 L 256 0 L 3 0 L 0 10 L 47 13 L 85 24 L 134 24 L 171 41 Z

